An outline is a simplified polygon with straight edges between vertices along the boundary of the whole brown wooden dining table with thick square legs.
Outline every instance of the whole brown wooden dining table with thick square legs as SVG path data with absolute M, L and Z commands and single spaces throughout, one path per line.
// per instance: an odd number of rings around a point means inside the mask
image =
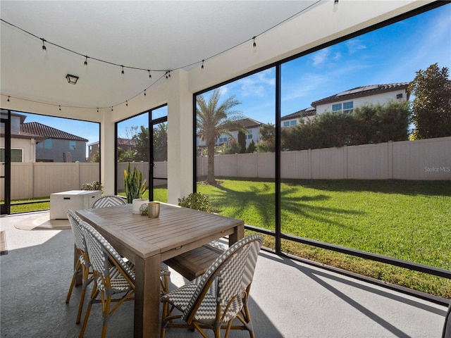
M 135 337 L 159 337 L 161 262 L 225 236 L 231 245 L 245 231 L 242 220 L 163 203 L 159 218 L 132 213 L 132 204 L 76 213 L 135 264 Z

